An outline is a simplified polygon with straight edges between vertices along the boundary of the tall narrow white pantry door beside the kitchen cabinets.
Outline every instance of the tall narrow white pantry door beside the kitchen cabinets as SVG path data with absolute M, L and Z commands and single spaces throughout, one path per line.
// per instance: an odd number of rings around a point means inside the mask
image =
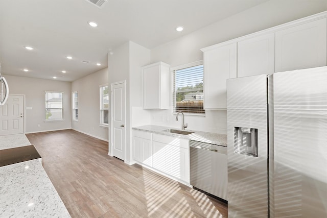
M 111 84 L 111 107 L 112 155 L 125 160 L 125 82 Z

